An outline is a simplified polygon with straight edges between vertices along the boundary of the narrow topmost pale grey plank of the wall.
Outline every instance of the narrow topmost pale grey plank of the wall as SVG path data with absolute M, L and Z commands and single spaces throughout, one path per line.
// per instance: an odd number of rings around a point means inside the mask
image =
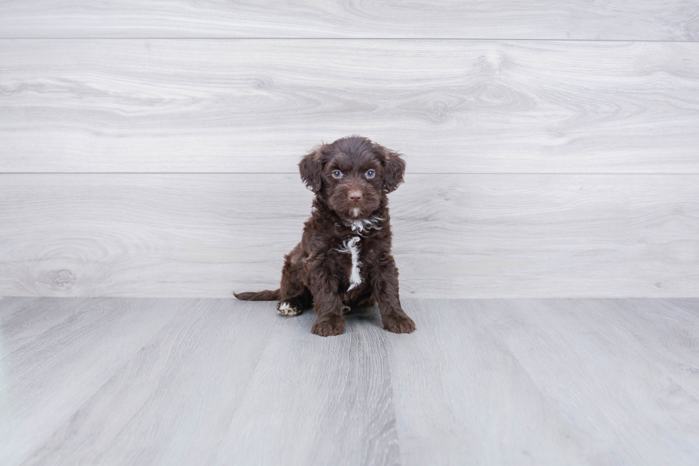
M 696 41 L 691 0 L 3 1 L 0 37 Z

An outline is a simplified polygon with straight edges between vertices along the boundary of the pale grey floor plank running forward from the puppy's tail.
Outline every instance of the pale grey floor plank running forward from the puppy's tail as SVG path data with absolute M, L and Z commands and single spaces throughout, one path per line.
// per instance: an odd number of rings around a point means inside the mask
M 140 302 L 147 312 L 160 300 Z M 178 308 L 24 464 L 211 464 L 220 445 L 243 435 L 228 426 L 248 391 L 259 393 L 250 378 L 282 330 L 271 305 L 261 307 L 208 300 Z

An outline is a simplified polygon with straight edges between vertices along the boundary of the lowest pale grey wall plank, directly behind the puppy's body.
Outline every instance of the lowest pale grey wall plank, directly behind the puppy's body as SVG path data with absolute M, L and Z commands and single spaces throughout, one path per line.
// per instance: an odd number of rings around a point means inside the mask
M 0 176 L 0 295 L 276 288 L 312 195 L 285 174 Z M 392 193 L 409 297 L 695 297 L 695 175 L 420 175 Z

